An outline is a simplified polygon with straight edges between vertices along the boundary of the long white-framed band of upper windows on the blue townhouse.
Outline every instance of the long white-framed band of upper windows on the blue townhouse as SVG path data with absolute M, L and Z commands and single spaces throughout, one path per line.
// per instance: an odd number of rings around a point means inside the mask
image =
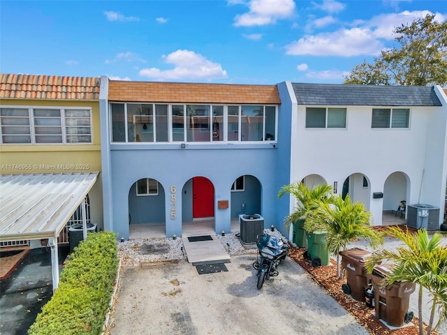
M 112 142 L 276 140 L 277 106 L 110 103 Z

